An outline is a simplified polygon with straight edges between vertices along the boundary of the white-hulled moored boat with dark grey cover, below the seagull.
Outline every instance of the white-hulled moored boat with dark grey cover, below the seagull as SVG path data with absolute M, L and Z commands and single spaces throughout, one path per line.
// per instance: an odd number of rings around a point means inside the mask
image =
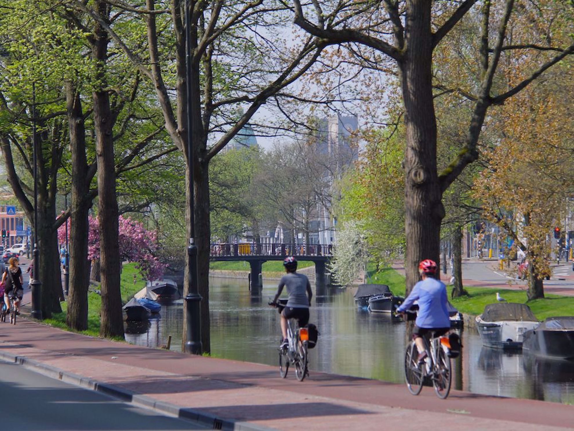
M 476 316 L 482 344 L 498 349 L 521 349 L 524 333 L 539 324 L 528 305 L 513 302 L 488 304 Z

